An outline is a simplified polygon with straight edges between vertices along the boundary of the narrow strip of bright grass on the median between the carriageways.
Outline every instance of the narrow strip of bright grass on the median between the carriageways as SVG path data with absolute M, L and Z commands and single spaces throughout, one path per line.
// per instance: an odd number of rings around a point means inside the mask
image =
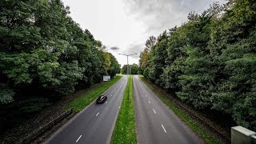
M 122 99 L 122 106 L 119 110 L 118 119 L 114 126 L 114 132 L 110 142 L 112 144 L 137 143 L 133 95 L 133 77 L 130 76 L 128 86 L 126 86 L 126 91 Z

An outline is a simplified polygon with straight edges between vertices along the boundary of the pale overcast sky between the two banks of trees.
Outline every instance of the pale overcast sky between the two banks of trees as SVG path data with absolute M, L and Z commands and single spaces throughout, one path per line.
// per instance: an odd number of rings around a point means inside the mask
M 88 29 L 114 54 L 123 66 L 137 63 L 146 39 L 180 26 L 187 14 L 201 14 L 216 0 L 62 0 L 70 6 L 70 16 L 83 30 Z M 225 0 L 218 0 L 224 3 Z M 114 50 L 111 49 L 114 47 Z M 119 48 L 119 49 L 118 49 Z

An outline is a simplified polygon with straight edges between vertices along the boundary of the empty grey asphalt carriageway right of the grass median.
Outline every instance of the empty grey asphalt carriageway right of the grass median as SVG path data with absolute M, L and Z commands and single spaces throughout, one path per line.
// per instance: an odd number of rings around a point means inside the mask
M 203 143 L 137 75 L 133 82 L 139 144 Z

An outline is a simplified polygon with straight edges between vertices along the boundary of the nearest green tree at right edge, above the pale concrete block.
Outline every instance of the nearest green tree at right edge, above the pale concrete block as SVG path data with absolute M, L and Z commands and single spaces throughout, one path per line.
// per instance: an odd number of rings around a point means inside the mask
M 220 74 L 213 108 L 231 114 L 239 125 L 256 130 L 255 109 L 255 16 L 256 2 L 231 1 L 211 40 Z

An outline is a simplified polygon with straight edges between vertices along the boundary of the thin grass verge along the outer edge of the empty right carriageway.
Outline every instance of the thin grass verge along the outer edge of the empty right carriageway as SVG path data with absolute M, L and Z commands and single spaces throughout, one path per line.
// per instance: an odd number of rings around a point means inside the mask
M 214 143 L 214 144 L 221 143 L 218 141 L 218 139 L 214 138 L 206 130 L 204 130 L 202 128 L 202 126 L 200 126 L 198 124 L 198 122 L 195 122 L 192 118 L 190 118 L 190 116 L 187 115 L 183 110 L 178 109 L 178 107 L 175 106 L 174 103 L 171 102 L 169 98 L 166 98 L 166 96 L 164 94 L 162 94 L 160 91 L 154 89 L 154 87 L 150 85 L 150 82 L 148 82 L 148 80 L 146 80 L 146 78 L 144 78 L 144 76 L 139 75 L 138 77 L 141 78 L 142 81 L 145 82 L 146 85 L 149 86 L 150 89 L 154 91 L 154 94 L 156 94 L 158 96 L 158 98 L 160 98 L 162 100 L 162 102 L 166 103 L 166 106 L 169 106 L 169 108 L 171 110 L 173 110 L 174 113 L 177 114 L 178 117 L 181 118 L 182 121 L 185 122 L 187 126 L 190 126 L 190 129 L 192 129 L 196 134 L 198 134 L 198 136 L 200 138 L 202 138 L 202 140 L 204 142 Z

